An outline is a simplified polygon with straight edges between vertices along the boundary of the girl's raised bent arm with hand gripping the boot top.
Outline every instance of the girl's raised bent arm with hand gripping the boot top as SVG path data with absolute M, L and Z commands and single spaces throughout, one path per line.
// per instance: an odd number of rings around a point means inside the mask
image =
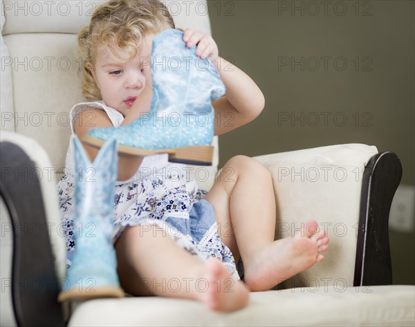
M 237 129 L 257 118 L 265 106 L 264 95 L 246 73 L 219 57 L 214 39 L 203 32 L 187 28 L 183 41 L 189 48 L 197 45 L 196 55 L 210 59 L 226 86 L 225 96 L 212 104 L 215 111 L 215 135 Z

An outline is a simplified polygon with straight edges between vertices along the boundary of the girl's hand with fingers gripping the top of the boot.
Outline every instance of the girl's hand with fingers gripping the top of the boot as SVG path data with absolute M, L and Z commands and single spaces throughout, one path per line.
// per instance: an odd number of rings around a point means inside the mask
M 192 48 L 196 44 L 196 55 L 201 58 L 208 58 L 212 64 L 216 63 L 219 57 L 219 50 L 216 42 L 208 34 L 205 34 L 199 30 L 192 30 L 192 28 L 186 28 L 183 35 L 183 41 L 185 41 L 187 48 Z

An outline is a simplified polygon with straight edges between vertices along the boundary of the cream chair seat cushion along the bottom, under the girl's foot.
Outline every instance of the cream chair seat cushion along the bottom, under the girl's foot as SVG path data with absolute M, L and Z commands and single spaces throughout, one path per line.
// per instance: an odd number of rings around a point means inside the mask
M 161 287 L 161 286 L 160 286 Z M 218 313 L 161 297 L 76 303 L 68 326 L 414 326 L 415 286 L 321 285 L 252 292 L 243 310 Z

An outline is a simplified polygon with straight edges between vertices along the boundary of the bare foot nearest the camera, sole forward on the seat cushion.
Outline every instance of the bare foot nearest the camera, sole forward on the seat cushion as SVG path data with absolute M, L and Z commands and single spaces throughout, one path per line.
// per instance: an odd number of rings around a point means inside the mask
M 208 290 L 200 292 L 199 300 L 211 310 L 230 312 L 248 304 L 248 288 L 242 281 L 234 280 L 216 259 L 203 265 L 203 278 L 208 280 Z

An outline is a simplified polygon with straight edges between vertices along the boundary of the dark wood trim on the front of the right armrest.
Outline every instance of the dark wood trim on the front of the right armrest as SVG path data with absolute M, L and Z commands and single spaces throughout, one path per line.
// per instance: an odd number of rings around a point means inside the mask
M 392 283 L 389 249 L 389 210 L 402 176 L 402 165 L 393 152 L 373 156 L 365 167 L 354 286 Z

